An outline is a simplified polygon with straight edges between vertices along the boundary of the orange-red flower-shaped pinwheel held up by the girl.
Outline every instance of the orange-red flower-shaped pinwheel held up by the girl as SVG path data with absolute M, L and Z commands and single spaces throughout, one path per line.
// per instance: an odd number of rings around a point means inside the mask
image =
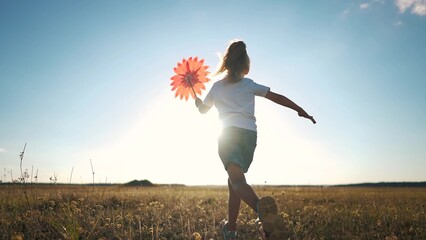
M 206 89 L 204 83 L 210 81 L 207 78 L 209 72 L 206 71 L 208 66 L 203 64 L 204 59 L 198 60 L 198 57 L 178 62 L 177 67 L 173 68 L 176 75 L 170 78 L 172 91 L 176 90 L 175 97 L 180 96 L 180 99 L 188 100 L 189 95 L 194 99 L 197 94 L 201 95 L 201 90 Z

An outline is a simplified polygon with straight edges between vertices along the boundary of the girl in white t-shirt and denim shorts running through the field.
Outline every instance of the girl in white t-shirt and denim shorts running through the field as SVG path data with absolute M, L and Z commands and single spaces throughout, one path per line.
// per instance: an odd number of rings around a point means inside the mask
M 200 113 L 208 112 L 214 105 L 222 121 L 223 131 L 219 138 L 219 157 L 228 172 L 228 222 L 222 226 L 225 239 L 236 239 L 236 221 L 241 200 L 259 216 L 268 239 L 287 239 L 288 229 L 277 215 L 275 201 L 271 197 L 260 198 L 247 184 L 246 173 L 253 160 L 257 132 L 254 116 L 254 97 L 265 97 L 277 104 L 295 110 L 299 116 L 315 120 L 290 99 L 270 91 L 269 87 L 255 83 L 244 76 L 250 70 L 250 59 L 243 41 L 231 42 L 216 75 L 225 77 L 213 84 L 204 102 L 196 98 Z

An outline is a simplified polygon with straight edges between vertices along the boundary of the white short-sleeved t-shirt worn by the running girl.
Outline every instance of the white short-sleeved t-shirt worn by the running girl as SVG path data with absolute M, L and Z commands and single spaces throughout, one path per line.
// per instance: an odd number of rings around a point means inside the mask
M 249 78 L 235 83 L 227 83 L 222 79 L 213 84 L 204 104 L 216 106 L 223 128 L 234 126 L 256 131 L 254 97 L 265 97 L 268 91 L 269 87 L 257 84 Z

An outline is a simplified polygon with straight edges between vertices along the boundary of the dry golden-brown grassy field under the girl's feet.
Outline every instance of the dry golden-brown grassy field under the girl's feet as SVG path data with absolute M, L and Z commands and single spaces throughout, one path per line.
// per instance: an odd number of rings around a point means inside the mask
M 299 239 L 426 239 L 425 188 L 255 187 Z M 224 187 L 0 186 L 0 239 L 222 239 Z M 242 204 L 239 239 L 258 239 Z

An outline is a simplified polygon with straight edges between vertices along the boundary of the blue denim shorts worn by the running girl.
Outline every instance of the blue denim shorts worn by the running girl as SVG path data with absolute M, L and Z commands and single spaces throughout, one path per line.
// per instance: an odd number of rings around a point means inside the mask
M 253 161 L 257 133 L 252 130 L 227 127 L 219 137 L 219 157 L 225 169 L 229 163 L 239 166 L 246 173 Z

